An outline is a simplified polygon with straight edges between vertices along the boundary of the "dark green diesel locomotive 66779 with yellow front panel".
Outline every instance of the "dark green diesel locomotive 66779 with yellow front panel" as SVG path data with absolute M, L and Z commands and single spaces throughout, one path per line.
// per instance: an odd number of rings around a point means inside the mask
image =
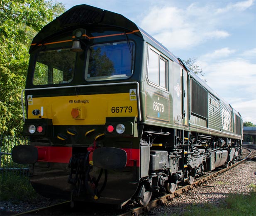
M 241 158 L 241 115 L 120 14 L 72 7 L 39 31 L 29 53 L 30 145 L 12 155 L 30 164 L 46 197 L 147 205 L 153 192 L 173 193 Z

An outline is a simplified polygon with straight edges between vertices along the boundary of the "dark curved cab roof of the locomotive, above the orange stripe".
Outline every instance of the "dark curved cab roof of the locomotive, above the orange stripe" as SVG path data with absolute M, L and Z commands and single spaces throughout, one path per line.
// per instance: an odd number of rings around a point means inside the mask
M 87 27 L 110 27 L 123 29 L 126 33 L 133 33 L 143 38 L 144 41 L 155 46 L 165 55 L 171 57 L 173 61 L 179 63 L 178 58 L 173 55 L 166 47 L 156 41 L 152 36 L 146 33 L 143 29 L 137 26 L 134 22 L 127 19 L 121 14 L 103 10 L 90 5 L 76 5 L 67 10 L 52 22 L 44 26 L 39 33 L 34 37 L 29 52 L 38 44 L 47 43 L 50 38 L 61 34 L 67 30 L 75 30 L 77 28 Z

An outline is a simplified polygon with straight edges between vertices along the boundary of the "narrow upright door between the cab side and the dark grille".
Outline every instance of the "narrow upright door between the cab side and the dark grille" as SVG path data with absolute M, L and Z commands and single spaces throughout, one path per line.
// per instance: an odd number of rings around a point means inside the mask
M 183 125 L 188 128 L 188 72 L 181 69 L 182 73 L 182 118 Z

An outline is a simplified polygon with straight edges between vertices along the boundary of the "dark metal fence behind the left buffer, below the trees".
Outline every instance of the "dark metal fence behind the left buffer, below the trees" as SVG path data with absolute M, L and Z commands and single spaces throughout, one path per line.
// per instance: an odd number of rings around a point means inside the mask
M 28 165 L 21 165 L 12 161 L 12 148 L 17 145 L 28 145 L 28 137 L 0 135 L 0 175 L 15 173 L 28 175 Z

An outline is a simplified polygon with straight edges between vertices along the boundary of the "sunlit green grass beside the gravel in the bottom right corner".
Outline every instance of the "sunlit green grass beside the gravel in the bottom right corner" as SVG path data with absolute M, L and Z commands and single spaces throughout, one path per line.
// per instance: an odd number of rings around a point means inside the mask
M 192 204 L 185 208 L 182 216 L 256 216 L 256 185 L 251 184 L 249 194 L 228 194 L 219 206 L 205 203 L 203 206 Z

